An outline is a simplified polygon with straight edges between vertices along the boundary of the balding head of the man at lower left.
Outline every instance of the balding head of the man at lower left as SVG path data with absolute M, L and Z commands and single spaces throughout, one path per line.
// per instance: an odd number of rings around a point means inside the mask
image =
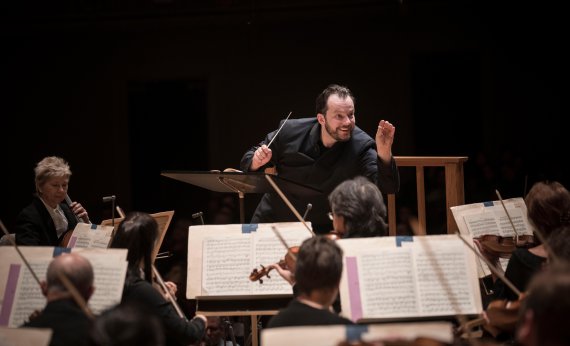
M 60 273 L 69 279 L 85 300 L 89 299 L 93 293 L 93 267 L 85 257 L 75 253 L 62 254 L 50 262 L 46 274 L 48 296 L 68 291 L 60 280 Z

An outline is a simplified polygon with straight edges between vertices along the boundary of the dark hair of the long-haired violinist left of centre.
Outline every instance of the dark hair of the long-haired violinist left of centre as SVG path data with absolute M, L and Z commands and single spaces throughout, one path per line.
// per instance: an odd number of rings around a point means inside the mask
M 152 251 L 158 238 L 158 224 L 147 213 L 131 212 L 119 225 L 111 248 L 128 249 L 129 273 L 139 277 L 140 262 L 144 264 L 145 280 L 152 282 Z

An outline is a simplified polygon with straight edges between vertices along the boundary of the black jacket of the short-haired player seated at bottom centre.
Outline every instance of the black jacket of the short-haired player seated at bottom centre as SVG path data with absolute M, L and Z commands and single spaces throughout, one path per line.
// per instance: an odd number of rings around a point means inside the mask
M 351 320 L 339 316 L 328 309 L 317 309 L 301 303 L 297 299 L 291 300 L 285 309 L 273 316 L 267 328 L 294 327 L 294 326 L 322 326 L 334 324 L 354 324 Z

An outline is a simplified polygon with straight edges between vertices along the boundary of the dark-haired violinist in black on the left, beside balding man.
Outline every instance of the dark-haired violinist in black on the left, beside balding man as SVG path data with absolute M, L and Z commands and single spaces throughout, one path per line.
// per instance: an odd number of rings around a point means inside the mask
M 122 303 L 141 304 L 156 315 L 162 323 L 167 345 L 188 345 L 202 339 L 206 317 L 196 315 L 188 321 L 181 318 L 175 307 L 163 296 L 174 296 L 173 291 L 159 292 L 153 286 L 152 251 L 158 239 L 158 224 L 147 213 L 127 214 L 119 225 L 111 248 L 128 249 L 127 278 Z M 174 283 L 167 284 L 173 289 Z

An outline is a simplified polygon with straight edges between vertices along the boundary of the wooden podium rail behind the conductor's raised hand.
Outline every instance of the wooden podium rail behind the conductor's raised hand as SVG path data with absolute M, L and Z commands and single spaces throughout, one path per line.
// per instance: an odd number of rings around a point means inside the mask
M 416 168 L 418 198 L 419 234 L 426 233 L 426 196 L 424 167 L 445 167 L 445 209 L 447 211 L 447 233 L 458 231 L 450 207 L 465 204 L 463 163 L 466 156 L 395 156 L 398 167 Z M 396 196 L 388 194 L 388 226 L 390 236 L 396 235 Z

